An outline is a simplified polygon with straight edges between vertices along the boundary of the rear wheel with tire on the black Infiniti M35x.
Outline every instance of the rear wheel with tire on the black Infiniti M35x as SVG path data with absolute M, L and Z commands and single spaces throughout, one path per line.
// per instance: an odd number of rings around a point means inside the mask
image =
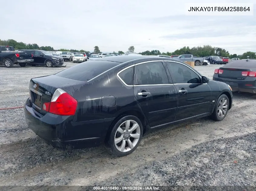
M 131 154 L 140 144 L 142 133 L 141 121 L 135 116 L 125 116 L 113 127 L 108 140 L 108 149 L 119 157 Z

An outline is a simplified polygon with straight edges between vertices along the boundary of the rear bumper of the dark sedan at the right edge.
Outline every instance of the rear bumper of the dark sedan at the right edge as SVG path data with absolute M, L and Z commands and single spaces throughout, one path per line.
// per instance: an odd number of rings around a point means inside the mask
M 215 76 L 216 75 L 216 76 Z M 232 88 L 232 91 L 241 91 L 241 92 L 249 92 L 256 94 L 256 86 L 255 81 L 245 81 L 245 80 L 233 80 L 233 79 L 227 79 L 227 78 L 219 78 L 217 77 L 218 74 L 213 75 L 213 80 L 215 81 L 222 81 L 226 84 L 230 85 Z M 251 85 L 251 86 L 248 86 Z

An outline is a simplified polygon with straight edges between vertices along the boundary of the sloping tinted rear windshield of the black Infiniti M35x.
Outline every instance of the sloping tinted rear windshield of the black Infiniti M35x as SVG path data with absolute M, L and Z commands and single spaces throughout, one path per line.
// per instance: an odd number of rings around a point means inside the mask
M 119 64 L 121 63 L 105 60 L 91 60 L 62 70 L 55 75 L 72 80 L 88 81 Z

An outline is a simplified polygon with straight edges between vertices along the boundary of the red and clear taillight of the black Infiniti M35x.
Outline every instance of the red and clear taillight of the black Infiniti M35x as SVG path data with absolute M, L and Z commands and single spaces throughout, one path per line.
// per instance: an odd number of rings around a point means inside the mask
M 58 88 L 52 95 L 51 102 L 43 103 L 43 110 L 56 115 L 75 115 L 77 100 Z

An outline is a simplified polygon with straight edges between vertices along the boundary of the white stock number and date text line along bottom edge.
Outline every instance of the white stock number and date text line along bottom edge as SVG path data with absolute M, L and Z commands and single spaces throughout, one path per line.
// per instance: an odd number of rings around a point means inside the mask
M 93 190 L 159 190 L 155 186 L 94 186 Z

